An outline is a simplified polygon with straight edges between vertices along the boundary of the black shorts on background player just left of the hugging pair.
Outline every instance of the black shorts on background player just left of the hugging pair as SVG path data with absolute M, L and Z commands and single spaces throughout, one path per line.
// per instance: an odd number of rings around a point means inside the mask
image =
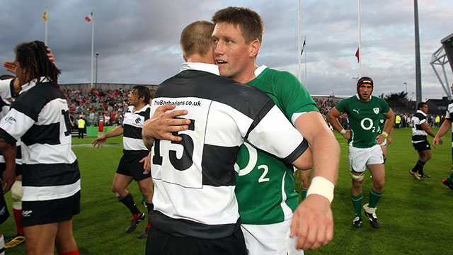
M 145 172 L 143 169 L 144 163 L 140 163 L 144 157 L 147 157 L 149 152 L 139 154 L 123 154 L 120 159 L 120 164 L 116 170 L 117 174 L 132 176 L 135 181 L 142 181 L 151 178 L 151 172 Z

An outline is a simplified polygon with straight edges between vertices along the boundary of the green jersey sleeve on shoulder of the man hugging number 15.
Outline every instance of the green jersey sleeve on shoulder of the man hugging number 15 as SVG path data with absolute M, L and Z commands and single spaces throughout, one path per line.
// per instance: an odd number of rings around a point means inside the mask
M 282 110 L 289 120 L 294 113 L 318 111 L 318 107 L 302 83 L 289 72 L 279 72 L 275 79 L 277 97 L 281 100 Z

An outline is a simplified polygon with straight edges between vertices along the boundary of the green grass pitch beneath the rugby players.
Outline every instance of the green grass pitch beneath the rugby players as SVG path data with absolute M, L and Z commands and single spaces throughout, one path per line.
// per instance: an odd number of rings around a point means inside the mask
M 437 132 L 437 129 L 434 129 Z M 425 165 L 430 179 L 415 181 L 408 174 L 417 161 L 411 145 L 411 130 L 394 130 L 393 142 L 387 148 L 386 184 L 377 206 L 381 227 L 374 229 L 364 217 L 362 228 L 352 227 L 354 211 L 350 200 L 351 181 L 348 173 L 347 141 L 336 133 L 341 147 L 340 169 L 332 203 L 335 220 L 333 241 L 305 254 L 453 254 L 453 191 L 441 181 L 451 171 L 451 134 L 444 145 L 432 148 L 432 159 Z M 122 156 L 122 138 L 107 140 L 105 147 L 93 148 L 94 137 L 73 138 L 73 150 L 81 170 L 81 213 L 74 217 L 74 237 L 80 254 L 144 254 L 146 240 L 137 235 L 146 222 L 125 234 L 131 220 L 130 212 L 118 203 L 110 191 L 117 164 Z M 432 140 L 428 138 L 428 140 Z M 368 203 L 372 180 L 366 172 L 363 186 L 364 204 Z M 300 189 L 300 186 L 297 185 Z M 140 210 L 142 196 L 137 183 L 128 187 Z M 11 216 L 1 225 L 6 235 L 16 233 L 12 216 L 11 195 L 5 195 Z M 6 254 L 24 254 L 25 245 L 6 250 Z

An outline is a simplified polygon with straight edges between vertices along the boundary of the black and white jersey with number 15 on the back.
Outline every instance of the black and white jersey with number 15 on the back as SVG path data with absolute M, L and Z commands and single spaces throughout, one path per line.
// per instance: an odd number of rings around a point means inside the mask
M 286 163 L 308 147 L 302 135 L 262 91 L 219 77 L 217 66 L 185 63 L 159 85 L 151 115 L 165 103 L 186 109 L 180 142 L 155 140 L 153 226 L 176 236 L 218 239 L 239 228 L 234 164 L 244 140 Z M 207 72 L 204 72 L 207 71 Z

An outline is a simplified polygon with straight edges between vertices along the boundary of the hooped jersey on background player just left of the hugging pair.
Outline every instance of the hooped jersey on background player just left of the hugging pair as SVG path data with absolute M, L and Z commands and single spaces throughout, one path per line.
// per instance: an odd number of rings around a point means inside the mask
M 123 137 L 122 146 L 125 153 L 148 152 L 142 139 L 143 123 L 149 119 L 149 105 L 134 112 L 134 106 L 129 106 L 122 121 Z

